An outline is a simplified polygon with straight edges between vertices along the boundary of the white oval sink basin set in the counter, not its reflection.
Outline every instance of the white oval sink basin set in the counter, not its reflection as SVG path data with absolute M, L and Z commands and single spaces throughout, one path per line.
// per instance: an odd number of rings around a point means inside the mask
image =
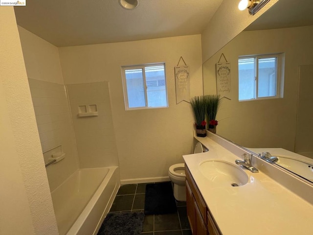
M 203 176 L 221 186 L 242 186 L 248 182 L 245 171 L 226 161 L 205 160 L 200 163 L 199 168 Z

